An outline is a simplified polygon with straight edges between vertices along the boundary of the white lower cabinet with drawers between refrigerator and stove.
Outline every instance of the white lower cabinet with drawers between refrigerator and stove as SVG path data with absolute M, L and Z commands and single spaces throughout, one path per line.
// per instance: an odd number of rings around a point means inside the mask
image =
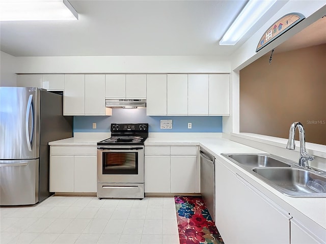
M 51 146 L 50 192 L 96 192 L 96 167 L 96 147 Z

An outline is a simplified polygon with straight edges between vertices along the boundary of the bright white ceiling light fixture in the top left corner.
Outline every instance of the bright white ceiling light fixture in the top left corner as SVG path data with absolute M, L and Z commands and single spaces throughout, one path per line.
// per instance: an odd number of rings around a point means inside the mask
M 0 0 L 0 21 L 76 19 L 67 0 Z

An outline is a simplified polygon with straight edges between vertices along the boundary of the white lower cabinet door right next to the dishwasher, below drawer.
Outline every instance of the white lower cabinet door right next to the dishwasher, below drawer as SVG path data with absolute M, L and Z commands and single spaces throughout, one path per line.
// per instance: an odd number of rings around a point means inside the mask
M 171 156 L 171 192 L 196 192 L 196 156 Z

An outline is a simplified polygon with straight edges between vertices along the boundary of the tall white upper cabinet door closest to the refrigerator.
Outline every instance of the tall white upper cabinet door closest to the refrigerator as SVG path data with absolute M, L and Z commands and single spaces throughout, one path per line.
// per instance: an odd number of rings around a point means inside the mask
M 65 75 L 64 115 L 85 114 L 85 75 Z

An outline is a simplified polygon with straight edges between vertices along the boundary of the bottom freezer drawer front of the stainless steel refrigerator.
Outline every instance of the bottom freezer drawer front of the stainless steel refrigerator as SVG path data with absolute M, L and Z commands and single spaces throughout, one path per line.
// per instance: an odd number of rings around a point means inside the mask
M 39 201 L 39 160 L 0 160 L 0 205 Z

